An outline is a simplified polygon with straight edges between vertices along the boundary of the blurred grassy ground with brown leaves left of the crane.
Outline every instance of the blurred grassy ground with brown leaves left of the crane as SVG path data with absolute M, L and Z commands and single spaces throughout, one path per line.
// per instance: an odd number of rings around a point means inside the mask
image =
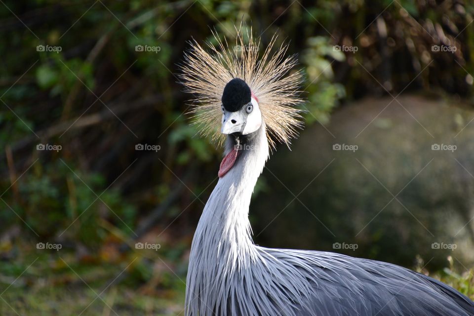
M 150 252 L 22 249 L 14 260 L 0 252 L 1 316 L 182 315 L 184 263 Z

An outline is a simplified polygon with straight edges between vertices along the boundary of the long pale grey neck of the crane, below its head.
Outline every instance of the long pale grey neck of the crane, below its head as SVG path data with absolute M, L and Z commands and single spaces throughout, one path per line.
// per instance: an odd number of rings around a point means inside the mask
M 234 166 L 219 178 L 204 207 L 191 256 L 207 251 L 206 256 L 226 256 L 230 260 L 228 264 L 238 259 L 248 261 L 254 256 L 248 210 L 253 189 L 269 156 L 265 124 L 262 122 L 250 135 L 240 136 L 239 141 L 242 149 Z M 235 144 L 235 137 L 230 135 L 225 153 Z

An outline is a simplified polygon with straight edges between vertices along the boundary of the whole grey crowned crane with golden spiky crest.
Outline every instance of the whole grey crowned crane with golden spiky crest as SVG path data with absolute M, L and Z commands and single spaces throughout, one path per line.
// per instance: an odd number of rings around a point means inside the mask
M 257 246 L 250 197 L 275 141 L 289 145 L 300 125 L 295 105 L 302 75 L 275 37 L 261 58 L 259 40 L 237 31 L 227 41 L 196 41 L 181 79 L 196 96 L 204 135 L 224 137 L 219 181 L 194 235 L 187 316 L 472 316 L 474 303 L 452 287 L 411 270 L 342 254 Z M 236 49 L 237 48 L 237 49 Z M 220 128 L 220 133 L 219 133 Z

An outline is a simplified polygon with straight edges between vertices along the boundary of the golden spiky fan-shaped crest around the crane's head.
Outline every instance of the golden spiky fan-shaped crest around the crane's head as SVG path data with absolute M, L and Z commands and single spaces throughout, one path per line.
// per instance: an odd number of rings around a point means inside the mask
M 245 44 L 240 28 L 236 46 L 230 47 L 227 40 L 220 40 L 213 32 L 217 45 L 207 44 L 210 53 L 196 40 L 191 42 L 180 78 L 185 91 L 195 96 L 191 110 L 193 122 L 200 127 L 202 135 L 221 143 L 225 136 L 219 132 L 222 93 L 231 79 L 240 78 L 258 98 L 270 148 L 275 149 L 275 140 L 289 147 L 291 138 L 297 136 L 297 129 L 302 125 L 301 111 L 295 106 L 304 102 L 298 91 L 303 76 L 300 71 L 290 73 L 297 61 L 294 56 L 284 57 L 287 45 L 280 45 L 272 53 L 276 35 L 259 58 L 260 40 L 254 40 L 251 33 L 251 30 L 250 34 L 247 32 L 248 43 Z

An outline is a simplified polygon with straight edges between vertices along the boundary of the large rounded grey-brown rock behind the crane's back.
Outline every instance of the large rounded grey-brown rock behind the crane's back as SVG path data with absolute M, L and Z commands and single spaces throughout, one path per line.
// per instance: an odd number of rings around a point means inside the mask
M 269 190 L 250 210 L 257 242 L 406 266 L 418 254 L 438 267 L 447 255 L 474 261 L 474 112 L 421 96 L 392 100 L 346 105 L 325 128 L 305 129 L 291 152 L 278 150 L 263 174 Z M 333 249 L 343 242 L 357 249 Z

